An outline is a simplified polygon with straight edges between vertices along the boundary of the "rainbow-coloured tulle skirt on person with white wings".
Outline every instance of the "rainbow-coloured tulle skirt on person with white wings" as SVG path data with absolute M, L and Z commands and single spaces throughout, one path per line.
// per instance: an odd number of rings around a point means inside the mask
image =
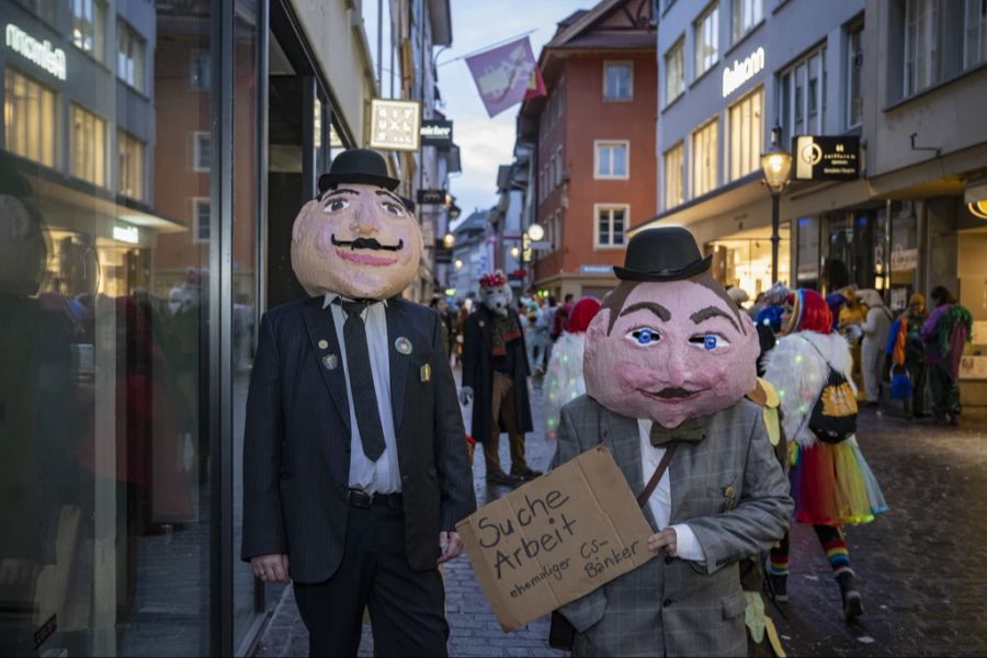
M 792 445 L 789 477 L 796 521 L 841 526 L 869 523 L 888 510 L 856 438 L 840 443 L 817 441 L 809 447 Z

